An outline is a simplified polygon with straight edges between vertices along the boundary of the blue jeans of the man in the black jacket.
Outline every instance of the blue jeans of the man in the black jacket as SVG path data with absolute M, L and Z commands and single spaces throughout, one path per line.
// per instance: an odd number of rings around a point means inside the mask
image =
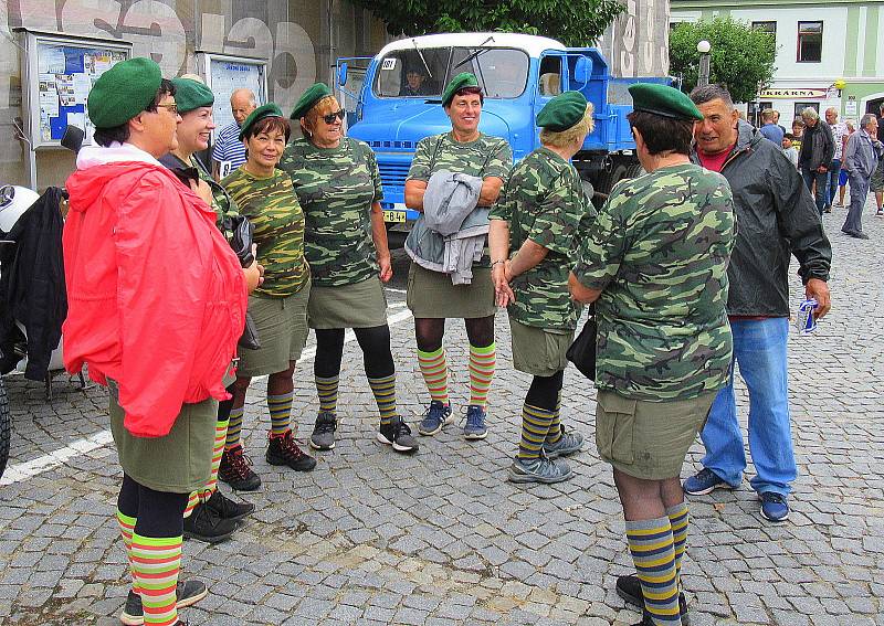
M 734 360 L 749 389 L 749 452 L 756 469 L 750 485 L 759 494 L 775 491 L 787 496 L 798 476 L 786 368 L 789 319 L 732 320 L 730 330 Z M 706 446 L 703 466 L 726 482 L 739 485 L 746 469 L 746 453 L 737 422 L 733 363 L 730 380 L 715 397 L 701 437 Z

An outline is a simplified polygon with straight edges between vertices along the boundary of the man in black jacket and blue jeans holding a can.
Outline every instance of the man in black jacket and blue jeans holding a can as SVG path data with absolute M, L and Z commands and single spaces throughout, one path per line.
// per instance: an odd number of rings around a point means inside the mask
M 832 250 L 807 185 L 782 150 L 739 119 L 720 86 L 698 87 L 691 99 L 704 116 L 694 127 L 692 155 L 730 183 L 737 214 L 737 243 L 730 256 L 727 314 L 734 360 L 749 390 L 749 450 L 756 468 L 753 488 L 761 516 L 789 517 L 787 501 L 798 469 L 792 448 L 786 368 L 789 333 L 789 259 L 798 259 L 806 295 L 815 298 L 815 318 L 830 308 Z M 733 489 L 746 468 L 737 421 L 734 371 L 715 399 L 703 432 L 703 469 L 684 482 L 691 495 Z

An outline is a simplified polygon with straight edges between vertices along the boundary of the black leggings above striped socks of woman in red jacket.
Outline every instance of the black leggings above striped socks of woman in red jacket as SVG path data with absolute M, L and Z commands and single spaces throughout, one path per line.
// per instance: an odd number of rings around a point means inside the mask
M 135 532 L 141 537 L 181 537 L 188 497 L 188 494 L 155 491 L 124 474 L 117 508 L 124 516 L 136 518 Z

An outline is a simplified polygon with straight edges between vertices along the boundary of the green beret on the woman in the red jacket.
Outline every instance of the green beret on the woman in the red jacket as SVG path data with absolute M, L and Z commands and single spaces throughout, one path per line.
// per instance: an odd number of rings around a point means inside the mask
M 92 86 L 86 110 L 95 128 L 116 128 L 154 103 L 162 73 L 150 59 L 120 61 Z

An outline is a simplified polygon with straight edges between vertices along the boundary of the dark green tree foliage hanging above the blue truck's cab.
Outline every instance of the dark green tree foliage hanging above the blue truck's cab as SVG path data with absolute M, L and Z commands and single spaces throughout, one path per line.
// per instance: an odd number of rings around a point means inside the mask
M 370 9 L 392 35 L 504 31 L 590 45 L 625 7 L 618 0 L 351 0 Z

